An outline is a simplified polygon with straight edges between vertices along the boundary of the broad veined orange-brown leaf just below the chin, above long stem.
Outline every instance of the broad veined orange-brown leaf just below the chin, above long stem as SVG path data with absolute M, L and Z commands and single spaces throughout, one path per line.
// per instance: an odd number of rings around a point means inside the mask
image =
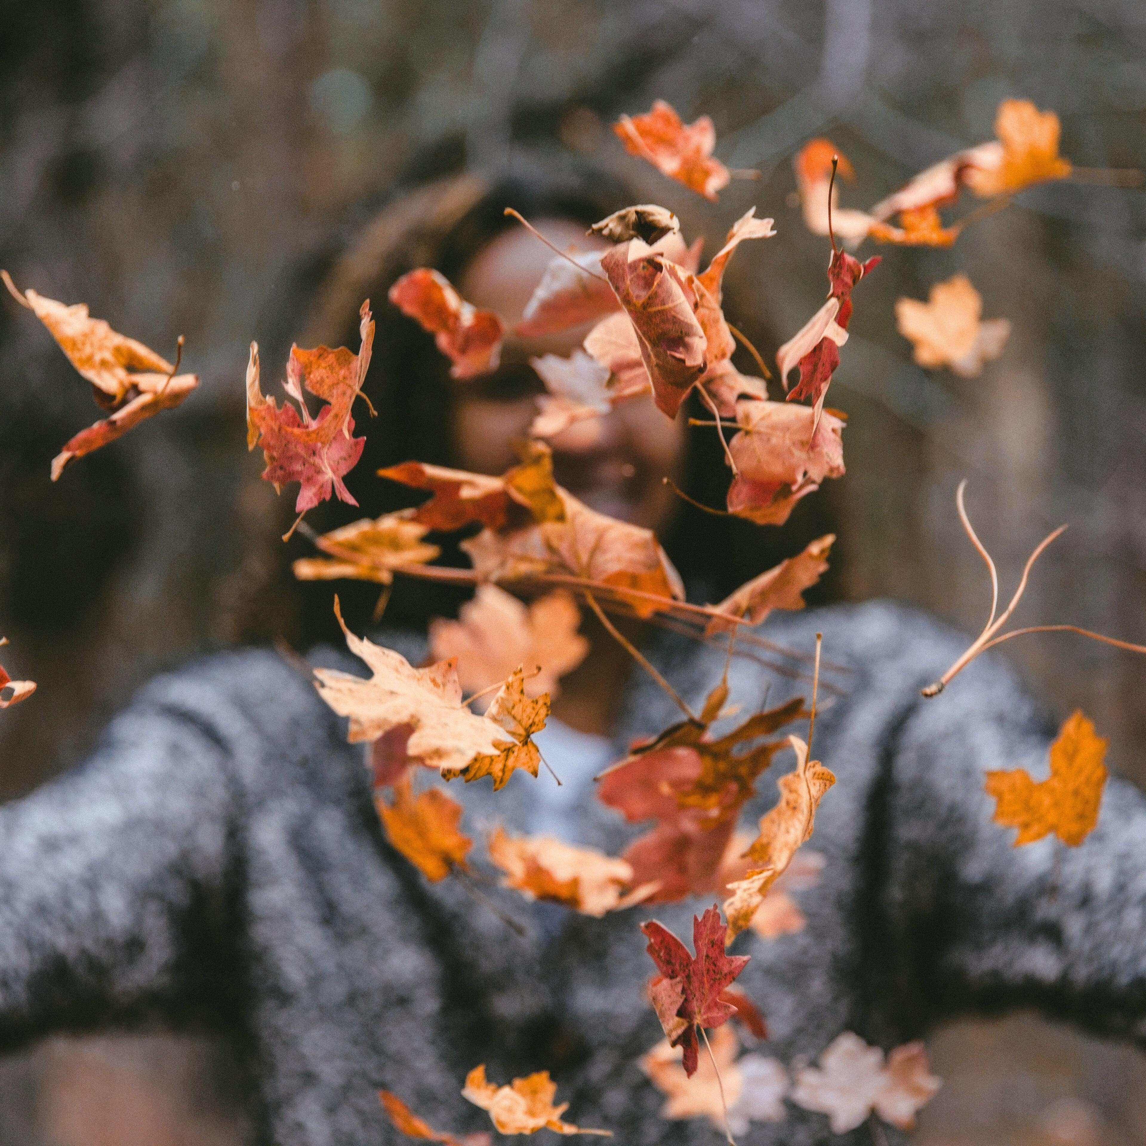
M 462 542 L 481 580 L 572 574 L 628 601 L 641 617 L 683 599 L 680 574 L 651 529 L 606 517 L 560 486 L 556 489 L 563 520 L 505 531 L 486 528 Z M 642 596 L 627 595 L 627 589 Z

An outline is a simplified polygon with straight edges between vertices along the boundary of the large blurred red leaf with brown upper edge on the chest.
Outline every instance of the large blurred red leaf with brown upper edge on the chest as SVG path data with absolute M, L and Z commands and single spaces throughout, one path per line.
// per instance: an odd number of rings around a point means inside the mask
M 747 752 L 736 749 L 775 732 L 803 712 L 801 700 L 758 713 L 723 737 L 708 725 L 727 697 L 717 685 L 699 721 L 674 724 L 602 777 L 598 798 L 630 823 L 657 819 L 657 826 L 626 849 L 638 884 L 659 881 L 651 903 L 670 903 L 716 889 L 716 872 L 740 808 L 755 779 L 785 741 L 771 740 Z

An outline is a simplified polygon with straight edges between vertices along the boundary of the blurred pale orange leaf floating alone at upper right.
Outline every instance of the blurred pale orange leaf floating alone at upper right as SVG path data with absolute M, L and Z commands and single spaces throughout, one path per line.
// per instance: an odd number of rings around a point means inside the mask
M 1006 319 L 981 322 L 983 300 L 966 275 L 935 283 L 928 300 L 895 301 L 895 324 L 915 347 L 924 367 L 947 366 L 964 378 L 980 374 L 983 362 L 997 359 L 1011 335 Z

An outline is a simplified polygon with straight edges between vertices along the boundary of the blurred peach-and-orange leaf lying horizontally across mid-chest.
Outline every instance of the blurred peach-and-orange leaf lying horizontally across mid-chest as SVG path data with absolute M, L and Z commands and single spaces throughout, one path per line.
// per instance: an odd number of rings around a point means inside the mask
M 627 894 L 633 869 L 623 859 L 549 835 L 510 837 L 499 827 L 489 837 L 489 858 L 505 872 L 507 887 L 598 919 L 644 898 Z

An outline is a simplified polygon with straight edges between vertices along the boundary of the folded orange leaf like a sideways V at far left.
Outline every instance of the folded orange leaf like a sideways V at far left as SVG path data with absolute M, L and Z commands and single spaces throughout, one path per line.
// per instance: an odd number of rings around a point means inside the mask
M 198 386 L 196 375 L 176 375 L 175 367 L 155 351 L 117 333 L 102 319 L 91 317 L 84 303 L 66 306 L 34 290 L 21 292 L 7 270 L 0 270 L 0 278 L 11 297 L 48 328 L 68 361 L 92 384 L 96 403 L 113 411 L 64 445 L 52 460 L 53 481 L 69 462 L 123 437 L 144 418 L 179 406 Z

